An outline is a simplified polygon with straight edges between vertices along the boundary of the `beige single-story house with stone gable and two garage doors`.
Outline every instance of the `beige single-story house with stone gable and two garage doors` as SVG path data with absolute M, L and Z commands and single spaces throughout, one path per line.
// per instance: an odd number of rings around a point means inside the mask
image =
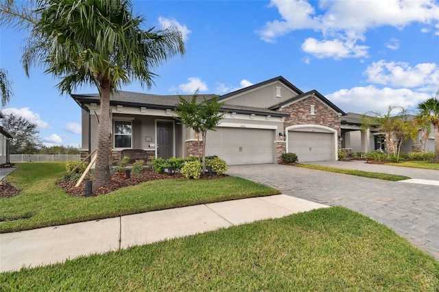
M 182 95 L 188 100 L 192 95 Z M 82 108 L 82 157 L 97 147 L 99 94 L 75 94 Z M 212 95 L 199 95 L 200 100 Z M 229 165 L 278 163 L 292 152 L 301 162 L 337 160 L 345 113 L 317 90 L 303 93 L 279 76 L 219 97 L 224 119 L 206 136 L 206 155 Z M 152 158 L 195 156 L 198 139 L 176 121 L 178 95 L 119 91 L 110 97 L 112 159 L 123 149 Z

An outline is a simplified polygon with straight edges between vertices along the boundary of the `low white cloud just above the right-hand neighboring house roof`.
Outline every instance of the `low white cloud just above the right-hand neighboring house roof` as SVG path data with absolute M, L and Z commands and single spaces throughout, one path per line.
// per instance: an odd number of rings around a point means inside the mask
M 419 93 L 405 88 L 377 88 L 370 85 L 341 89 L 325 96 L 344 112 L 364 114 L 370 111 L 382 111 L 388 106 L 414 109 L 420 102 L 429 99 L 431 94 Z

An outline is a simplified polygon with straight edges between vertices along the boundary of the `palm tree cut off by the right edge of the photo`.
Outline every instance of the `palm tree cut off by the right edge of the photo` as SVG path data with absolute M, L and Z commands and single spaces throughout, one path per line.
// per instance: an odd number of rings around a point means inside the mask
M 417 119 L 433 124 L 434 130 L 434 162 L 439 163 L 439 90 L 436 97 L 431 97 L 418 104 Z

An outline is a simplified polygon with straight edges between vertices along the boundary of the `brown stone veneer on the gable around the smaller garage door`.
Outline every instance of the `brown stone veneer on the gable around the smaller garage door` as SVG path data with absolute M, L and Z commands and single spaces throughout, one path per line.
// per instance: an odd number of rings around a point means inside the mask
M 311 106 L 314 106 L 315 114 L 313 115 L 311 114 Z M 289 114 L 289 117 L 283 122 L 284 128 L 292 125 L 323 125 L 336 130 L 337 136 L 340 136 L 341 117 L 316 97 L 307 97 L 285 108 L 281 108 L 279 111 Z M 338 141 L 337 143 L 340 149 L 342 146 L 341 142 Z

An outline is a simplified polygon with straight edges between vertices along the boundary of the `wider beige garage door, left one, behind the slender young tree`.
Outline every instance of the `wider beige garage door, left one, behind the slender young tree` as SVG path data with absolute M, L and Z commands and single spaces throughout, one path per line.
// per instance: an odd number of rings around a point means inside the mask
M 206 156 L 219 156 L 228 165 L 273 163 L 274 130 L 217 127 L 206 141 Z

